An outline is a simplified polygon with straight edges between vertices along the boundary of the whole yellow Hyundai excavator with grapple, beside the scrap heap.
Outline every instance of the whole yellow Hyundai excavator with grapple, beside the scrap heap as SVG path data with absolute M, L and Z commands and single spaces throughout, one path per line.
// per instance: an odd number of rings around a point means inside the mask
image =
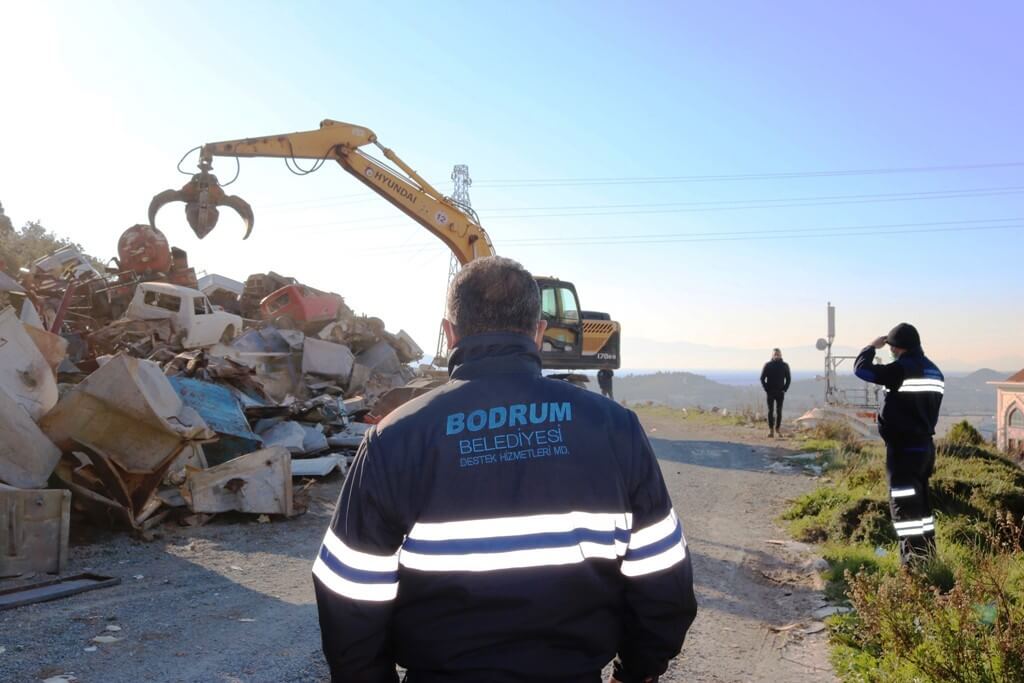
M 400 171 L 366 154 L 375 145 Z M 391 150 L 377 141 L 369 128 L 327 119 L 317 130 L 209 142 L 200 150 L 200 172 L 180 189 L 168 189 L 150 203 L 150 224 L 170 202 L 185 203 L 185 216 L 196 236 L 203 239 L 217 223 L 218 209 L 234 209 L 246 223 L 245 238 L 252 232 L 252 208 L 239 197 L 228 196 L 211 173 L 214 157 L 270 157 L 284 159 L 289 168 L 305 174 L 334 160 L 364 184 L 400 209 L 447 245 L 462 265 L 493 256 L 495 247 L 480 225 L 476 212 L 444 197 L 409 167 Z M 297 160 L 312 161 L 309 169 Z M 607 313 L 583 310 L 575 287 L 557 278 L 537 278 L 542 314 L 548 322 L 541 356 L 549 370 L 616 370 L 620 367 L 618 323 Z

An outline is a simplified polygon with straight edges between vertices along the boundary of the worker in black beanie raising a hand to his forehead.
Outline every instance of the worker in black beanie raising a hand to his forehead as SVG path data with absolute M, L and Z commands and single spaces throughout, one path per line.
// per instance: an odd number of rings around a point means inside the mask
M 896 358 L 872 365 L 874 350 L 886 344 Z M 886 442 L 889 506 L 899 538 L 900 560 L 911 564 L 935 550 L 935 517 L 928 500 L 928 479 L 935 467 L 935 424 L 945 378 L 925 356 L 912 325 L 900 323 L 885 337 L 864 347 L 854 372 L 865 382 L 886 388 L 879 434 Z

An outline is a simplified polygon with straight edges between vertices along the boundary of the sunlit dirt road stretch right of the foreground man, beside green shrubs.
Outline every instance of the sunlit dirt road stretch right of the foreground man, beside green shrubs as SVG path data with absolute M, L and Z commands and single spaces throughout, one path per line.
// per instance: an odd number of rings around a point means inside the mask
M 642 417 L 683 520 L 700 604 L 662 680 L 836 680 L 825 632 L 807 633 L 820 628 L 811 614 L 824 605 L 816 558 L 774 521 L 813 480 L 760 430 Z

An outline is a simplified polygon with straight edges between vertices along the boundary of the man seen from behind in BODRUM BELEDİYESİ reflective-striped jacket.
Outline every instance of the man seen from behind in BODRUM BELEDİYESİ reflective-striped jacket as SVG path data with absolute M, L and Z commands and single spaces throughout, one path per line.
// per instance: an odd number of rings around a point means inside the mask
M 635 414 L 541 375 L 532 276 L 465 266 L 451 381 L 362 444 L 313 565 L 333 681 L 656 681 L 696 613 Z

